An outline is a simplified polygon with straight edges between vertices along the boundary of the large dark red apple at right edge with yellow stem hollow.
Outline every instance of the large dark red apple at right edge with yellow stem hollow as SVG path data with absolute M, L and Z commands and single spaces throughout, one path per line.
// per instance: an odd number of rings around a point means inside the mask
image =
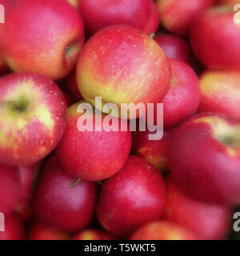
M 239 122 L 216 113 L 194 115 L 174 132 L 170 170 L 176 184 L 203 202 L 240 202 Z

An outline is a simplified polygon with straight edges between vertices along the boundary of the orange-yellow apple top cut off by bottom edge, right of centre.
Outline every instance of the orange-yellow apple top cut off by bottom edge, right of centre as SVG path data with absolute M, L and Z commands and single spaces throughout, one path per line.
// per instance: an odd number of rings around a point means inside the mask
M 131 235 L 130 240 L 198 240 L 190 230 L 173 222 L 155 221 L 140 227 Z

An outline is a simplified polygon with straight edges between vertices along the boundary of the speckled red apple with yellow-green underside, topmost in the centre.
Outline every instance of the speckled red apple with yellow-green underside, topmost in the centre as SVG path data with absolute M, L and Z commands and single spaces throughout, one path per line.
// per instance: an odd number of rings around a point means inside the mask
M 77 66 L 82 97 L 94 105 L 95 97 L 102 96 L 102 102 L 115 103 L 118 109 L 121 103 L 146 106 L 161 102 L 170 78 L 170 62 L 161 47 L 129 26 L 110 26 L 94 34 L 83 47 Z M 133 116 L 122 114 L 122 118 Z

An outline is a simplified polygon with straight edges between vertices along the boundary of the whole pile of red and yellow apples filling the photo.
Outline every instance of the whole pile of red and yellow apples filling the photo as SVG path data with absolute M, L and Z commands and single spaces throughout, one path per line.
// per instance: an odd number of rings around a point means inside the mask
M 0 0 L 0 239 L 226 239 L 238 2 Z M 95 97 L 163 103 L 163 138 L 98 131 L 106 114 L 80 131 L 79 102 L 101 110 Z

